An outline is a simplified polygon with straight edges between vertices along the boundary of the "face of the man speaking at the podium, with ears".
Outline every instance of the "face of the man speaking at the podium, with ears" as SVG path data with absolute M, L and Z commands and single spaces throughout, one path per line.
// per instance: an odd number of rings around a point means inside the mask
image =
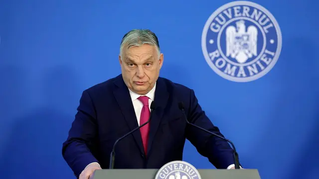
M 123 50 L 119 60 L 123 80 L 129 89 L 144 95 L 154 87 L 163 64 L 163 54 L 160 59 L 158 57 L 156 47 L 148 44 Z

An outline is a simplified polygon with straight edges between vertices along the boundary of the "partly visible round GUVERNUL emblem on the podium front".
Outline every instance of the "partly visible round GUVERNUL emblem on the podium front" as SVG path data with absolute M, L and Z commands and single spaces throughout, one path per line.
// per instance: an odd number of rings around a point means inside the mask
M 184 161 L 172 161 L 160 168 L 155 179 L 201 179 L 198 171 Z

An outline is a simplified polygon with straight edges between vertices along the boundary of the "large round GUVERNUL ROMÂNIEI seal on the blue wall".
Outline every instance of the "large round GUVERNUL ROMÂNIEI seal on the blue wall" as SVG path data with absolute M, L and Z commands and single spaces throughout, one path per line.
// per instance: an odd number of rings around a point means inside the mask
M 282 36 L 274 16 L 250 1 L 233 1 L 214 11 L 204 26 L 201 46 L 206 62 L 224 79 L 250 82 L 276 64 Z

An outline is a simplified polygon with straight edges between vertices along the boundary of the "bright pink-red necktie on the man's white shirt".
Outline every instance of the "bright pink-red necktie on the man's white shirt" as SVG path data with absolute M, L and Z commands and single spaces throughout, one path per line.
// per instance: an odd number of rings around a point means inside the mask
M 138 99 L 143 103 L 143 108 L 142 108 L 141 118 L 140 118 L 140 125 L 142 125 L 149 120 L 151 115 L 150 108 L 149 108 L 149 97 L 140 96 Z M 141 131 L 144 151 L 146 155 L 148 139 L 149 139 L 150 123 L 147 123 L 145 126 L 141 127 L 140 131 Z

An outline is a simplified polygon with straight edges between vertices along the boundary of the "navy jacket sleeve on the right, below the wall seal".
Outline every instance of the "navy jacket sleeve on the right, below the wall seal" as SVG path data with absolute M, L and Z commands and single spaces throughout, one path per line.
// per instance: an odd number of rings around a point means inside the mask
M 188 121 L 223 136 L 201 109 L 193 90 L 190 92 L 189 101 L 188 110 L 185 108 Z M 186 127 L 186 138 L 196 147 L 198 153 L 207 157 L 217 169 L 227 169 L 234 164 L 233 149 L 228 142 L 190 125 Z

